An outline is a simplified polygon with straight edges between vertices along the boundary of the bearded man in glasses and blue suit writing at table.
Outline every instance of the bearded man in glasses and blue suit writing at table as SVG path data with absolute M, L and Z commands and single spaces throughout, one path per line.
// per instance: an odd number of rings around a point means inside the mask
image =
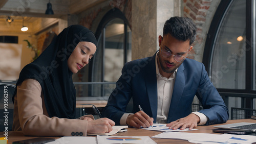
M 225 123 L 228 109 L 210 82 L 204 65 L 186 58 L 195 39 L 196 25 L 191 19 L 166 20 L 163 37 L 158 37 L 159 51 L 153 57 L 125 63 L 103 116 L 116 125 L 136 128 L 167 123 L 170 129 L 183 130 Z M 191 113 L 195 95 L 204 109 Z M 131 99 L 133 110 L 127 113 Z

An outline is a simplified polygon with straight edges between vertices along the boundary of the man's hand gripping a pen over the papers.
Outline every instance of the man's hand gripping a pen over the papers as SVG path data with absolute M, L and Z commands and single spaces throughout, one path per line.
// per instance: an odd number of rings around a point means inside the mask
M 130 114 L 126 118 L 126 124 L 136 128 L 148 128 L 153 125 L 154 118 L 148 116 L 143 111 L 138 111 L 135 114 Z

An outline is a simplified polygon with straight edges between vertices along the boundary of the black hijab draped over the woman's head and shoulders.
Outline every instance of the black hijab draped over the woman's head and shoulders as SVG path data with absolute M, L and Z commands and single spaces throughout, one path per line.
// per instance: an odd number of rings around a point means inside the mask
M 97 45 L 93 32 L 83 26 L 64 29 L 36 60 L 22 69 L 13 95 L 24 80 L 35 79 L 41 85 L 50 117 L 75 118 L 76 90 L 67 60 L 79 41 Z

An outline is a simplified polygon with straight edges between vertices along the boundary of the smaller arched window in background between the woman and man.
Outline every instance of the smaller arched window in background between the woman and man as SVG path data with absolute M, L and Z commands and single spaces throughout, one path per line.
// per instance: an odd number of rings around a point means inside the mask
M 132 60 L 132 32 L 119 9 L 111 9 L 99 23 L 95 36 L 97 51 L 90 64 L 89 81 L 104 82 L 91 85 L 89 95 L 108 97 L 121 76 L 124 63 Z

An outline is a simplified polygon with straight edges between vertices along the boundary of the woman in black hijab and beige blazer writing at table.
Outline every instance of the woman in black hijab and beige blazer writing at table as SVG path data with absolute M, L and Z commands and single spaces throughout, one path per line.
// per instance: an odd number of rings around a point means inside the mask
M 105 133 L 115 125 L 92 115 L 75 118 L 77 73 L 96 52 L 97 41 L 89 29 L 72 25 L 53 39 L 47 49 L 20 72 L 12 98 L 13 131 L 25 135 L 74 136 Z

